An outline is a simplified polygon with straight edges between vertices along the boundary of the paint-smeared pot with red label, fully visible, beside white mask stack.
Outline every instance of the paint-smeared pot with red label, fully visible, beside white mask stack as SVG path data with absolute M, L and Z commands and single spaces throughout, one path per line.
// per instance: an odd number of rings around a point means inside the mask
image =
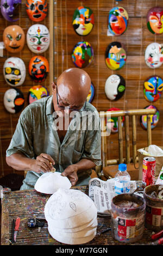
M 145 200 L 136 194 L 118 194 L 111 202 L 112 236 L 124 243 L 139 241 L 145 223 Z

